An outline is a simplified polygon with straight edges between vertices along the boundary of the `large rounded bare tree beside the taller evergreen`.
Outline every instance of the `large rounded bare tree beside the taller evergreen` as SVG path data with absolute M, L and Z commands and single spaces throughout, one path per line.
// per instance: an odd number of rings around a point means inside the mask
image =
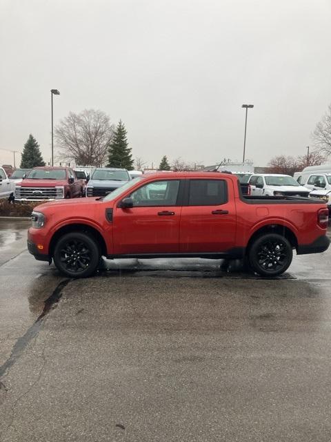
M 70 112 L 55 127 L 54 136 L 60 155 L 81 166 L 102 166 L 114 126 L 103 111 L 86 109 Z

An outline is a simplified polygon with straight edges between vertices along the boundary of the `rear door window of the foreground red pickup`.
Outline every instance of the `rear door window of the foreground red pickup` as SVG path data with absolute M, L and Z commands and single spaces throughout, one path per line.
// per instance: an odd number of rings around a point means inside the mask
M 225 180 L 190 180 L 189 206 L 219 206 L 228 202 Z

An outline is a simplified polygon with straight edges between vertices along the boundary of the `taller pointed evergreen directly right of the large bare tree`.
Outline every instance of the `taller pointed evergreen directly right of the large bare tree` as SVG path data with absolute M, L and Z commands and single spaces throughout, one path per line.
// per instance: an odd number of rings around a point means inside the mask
M 120 119 L 108 147 L 108 167 L 121 167 L 132 171 L 133 163 L 131 148 L 128 146 L 126 137 L 126 127 Z

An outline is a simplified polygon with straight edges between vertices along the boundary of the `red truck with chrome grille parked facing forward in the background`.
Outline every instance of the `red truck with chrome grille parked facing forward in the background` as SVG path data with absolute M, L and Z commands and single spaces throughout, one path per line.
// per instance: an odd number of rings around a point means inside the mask
M 70 167 L 34 167 L 15 186 L 15 200 L 63 200 L 85 196 L 85 184 Z

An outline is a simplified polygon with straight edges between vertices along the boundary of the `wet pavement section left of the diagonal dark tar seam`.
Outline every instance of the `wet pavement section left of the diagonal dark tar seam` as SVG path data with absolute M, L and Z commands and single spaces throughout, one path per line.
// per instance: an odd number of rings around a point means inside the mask
M 30 220 L 0 219 L 0 366 L 64 279 L 26 250 L 29 226 Z

